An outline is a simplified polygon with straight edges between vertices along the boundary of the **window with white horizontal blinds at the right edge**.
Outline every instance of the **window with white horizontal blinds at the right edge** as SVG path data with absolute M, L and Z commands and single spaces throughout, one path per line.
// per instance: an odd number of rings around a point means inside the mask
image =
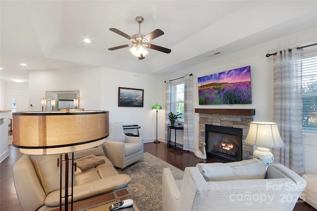
M 303 53 L 303 135 L 317 135 L 317 52 Z

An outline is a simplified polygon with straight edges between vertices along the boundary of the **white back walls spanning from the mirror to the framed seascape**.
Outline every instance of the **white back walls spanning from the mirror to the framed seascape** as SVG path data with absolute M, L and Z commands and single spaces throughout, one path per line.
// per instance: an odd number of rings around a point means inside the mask
M 164 104 L 164 94 L 160 92 L 164 82 L 158 76 L 100 67 L 78 74 L 31 71 L 29 81 L 29 102 L 34 105 L 30 111 L 42 109 L 40 99 L 45 98 L 45 91 L 79 90 L 81 108 L 108 110 L 109 122 L 138 124 L 144 142 L 156 139 L 156 112 L 152 106 Z M 118 87 L 143 89 L 144 107 L 118 107 Z M 159 118 L 161 114 L 159 111 Z

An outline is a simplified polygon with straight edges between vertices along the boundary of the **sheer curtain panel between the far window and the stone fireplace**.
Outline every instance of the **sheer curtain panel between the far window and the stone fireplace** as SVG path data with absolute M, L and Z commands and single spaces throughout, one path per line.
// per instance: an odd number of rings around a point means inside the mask
M 185 96 L 184 96 L 184 144 L 183 150 L 193 151 L 193 77 L 185 75 Z

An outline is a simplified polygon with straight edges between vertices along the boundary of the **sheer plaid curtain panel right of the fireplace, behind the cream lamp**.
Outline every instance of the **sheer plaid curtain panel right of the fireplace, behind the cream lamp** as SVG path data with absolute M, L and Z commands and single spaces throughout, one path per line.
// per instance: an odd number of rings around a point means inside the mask
M 281 50 L 273 56 L 274 122 L 277 123 L 283 148 L 274 148 L 274 162 L 298 174 L 304 173 L 302 144 L 302 51 Z

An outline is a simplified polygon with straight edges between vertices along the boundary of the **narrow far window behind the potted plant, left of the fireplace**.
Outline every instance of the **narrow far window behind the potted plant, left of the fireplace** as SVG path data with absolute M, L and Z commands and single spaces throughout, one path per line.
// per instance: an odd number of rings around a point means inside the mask
M 184 122 L 184 92 L 185 92 L 185 83 L 184 81 L 175 81 L 172 83 L 171 87 L 171 105 L 170 110 L 173 113 L 181 113 L 180 119 L 177 119 L 178 122 Z

